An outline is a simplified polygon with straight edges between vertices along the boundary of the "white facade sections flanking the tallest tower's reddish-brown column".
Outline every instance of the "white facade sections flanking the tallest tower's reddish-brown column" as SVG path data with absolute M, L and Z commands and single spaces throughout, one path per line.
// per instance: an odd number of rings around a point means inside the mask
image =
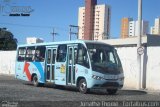
M 108 39 L 110 35 L 110 19 L 111 9 L 108 5 L 96 5 L 94 7 L 94 29 L 93 40 Z M 78 26 L 79 39 L 84 39 L 84 25 L 85 25 L 85 7 L 79 8 Z

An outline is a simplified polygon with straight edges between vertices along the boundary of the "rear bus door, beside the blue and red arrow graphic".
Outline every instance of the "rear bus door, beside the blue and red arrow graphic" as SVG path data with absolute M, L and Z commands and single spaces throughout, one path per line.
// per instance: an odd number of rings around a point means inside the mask
M 56 52 L 57 48 L 51 47 L 47 48 L 47 55 L 46 55 L 46 67 L 45 67 L 45 72 L 46 72 L 46 81 L 48 82 L 54 82 L 55 80 L 55 58 L 56 58 Z

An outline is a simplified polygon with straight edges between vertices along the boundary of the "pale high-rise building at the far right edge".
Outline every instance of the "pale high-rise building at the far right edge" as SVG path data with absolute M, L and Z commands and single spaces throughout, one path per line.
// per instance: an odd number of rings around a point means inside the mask
M 155 19 L 154 26 L 151 27 L 150 33 L 160 35 L 160 18 Z

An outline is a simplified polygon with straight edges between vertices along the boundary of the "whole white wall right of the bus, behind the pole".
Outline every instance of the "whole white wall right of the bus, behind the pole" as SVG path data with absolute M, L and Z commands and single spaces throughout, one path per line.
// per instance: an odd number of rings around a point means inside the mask
M 124 88 L 138 89 L 139 72 L 137 69 L 137 47 L 119 47 L 125 81 Z M 145 47 L 142 55 L 142 87 L 160 90 L 160 47 Z

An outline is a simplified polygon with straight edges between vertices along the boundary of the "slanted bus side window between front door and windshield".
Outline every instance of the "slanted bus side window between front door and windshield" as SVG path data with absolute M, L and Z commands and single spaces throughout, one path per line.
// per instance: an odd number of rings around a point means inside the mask
M 77 64 L 80 64 L 80 65 L 83 65 L 83 66 L 89 68 L 89 60 L 88 60 L 87 50 L 82 44 L 78 45 Z

